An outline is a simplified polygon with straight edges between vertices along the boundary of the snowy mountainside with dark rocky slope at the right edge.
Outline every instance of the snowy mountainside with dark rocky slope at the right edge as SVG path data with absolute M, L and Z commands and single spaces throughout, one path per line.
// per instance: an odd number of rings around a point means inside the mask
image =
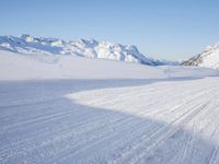
M 184 61 L 183 65 L 185 66 L 198 66 L 198 67 L 205 67 L 205 68 L 211 68 L 211 69 L 219 69 L 219 43 L 215 44 L 214 46 L 208 46 L 206 49 L 188 59 L 187 61 Z

